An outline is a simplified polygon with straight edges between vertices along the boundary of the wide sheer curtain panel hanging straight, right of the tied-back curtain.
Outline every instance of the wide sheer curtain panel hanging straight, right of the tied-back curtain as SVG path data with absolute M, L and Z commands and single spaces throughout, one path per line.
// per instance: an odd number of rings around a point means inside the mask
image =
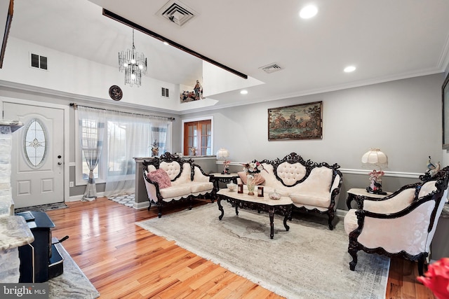
M 148 116 L 107 111 L 107 176 L 105 196 L 133 194 L 135 157 L 151 154 Z

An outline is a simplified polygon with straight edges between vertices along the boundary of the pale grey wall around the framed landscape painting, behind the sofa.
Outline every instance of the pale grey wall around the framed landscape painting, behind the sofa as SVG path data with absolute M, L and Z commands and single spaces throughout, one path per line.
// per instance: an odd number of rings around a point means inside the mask
M 315 162 L 337 162 L 361 169 L 361 156 L 381 148 L 388 170 L 422 173 L 427 157 L 443 161 L 441 85 L 443 74 L 409 78 L 276 102 L 189 113 L 182 118 L 213 116 L 214 148 L 225 147 L 231 160 L 282 158 L 296 152 Z M 323 139 L 268 141 L 267 109 L 323 102 Z M 445 166 L 445 165 L 442 165 Z

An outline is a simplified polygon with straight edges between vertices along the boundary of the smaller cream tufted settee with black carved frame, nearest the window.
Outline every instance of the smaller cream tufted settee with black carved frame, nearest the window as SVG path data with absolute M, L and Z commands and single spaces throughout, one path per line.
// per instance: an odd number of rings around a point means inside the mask
M 199 165 L 194 164 L 194 160 L 185 160 L 177 155 L 164 153 L 160 158 L 155 157 L 142 163 L 149 200 L 148 209 L 152 204 L 156 204 L 159 208 L 159 218 L 162 216 L 162 207 L 170 202 L 191 202 L 194 198 L 206 195 L 210 195 L 211 201 L 214 201 L 216 190 L 212 182 L 213 176 L 205 174 Z M 171 186 L 160 188 L 158 182 L 148 178 L 148 172 L 156 169 L 163 169 L 168 174 Z M 192 205 L 189 209 L 192 209 Z

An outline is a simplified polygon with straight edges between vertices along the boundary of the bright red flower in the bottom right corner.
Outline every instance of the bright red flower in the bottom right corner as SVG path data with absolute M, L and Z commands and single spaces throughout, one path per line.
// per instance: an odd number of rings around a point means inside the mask
M 416 279 L 430 288 L 436 298 L 449 298 L 449 258 L 431 263 L 424 276 Z

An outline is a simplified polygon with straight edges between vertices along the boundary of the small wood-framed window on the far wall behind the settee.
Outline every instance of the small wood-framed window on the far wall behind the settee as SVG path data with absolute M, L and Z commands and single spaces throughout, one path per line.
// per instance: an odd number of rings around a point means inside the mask
M 192 155 L 191 148 L 195 148 L 196 155 L 213 155 L 212 118 L 182 122 L 183 154 Z

